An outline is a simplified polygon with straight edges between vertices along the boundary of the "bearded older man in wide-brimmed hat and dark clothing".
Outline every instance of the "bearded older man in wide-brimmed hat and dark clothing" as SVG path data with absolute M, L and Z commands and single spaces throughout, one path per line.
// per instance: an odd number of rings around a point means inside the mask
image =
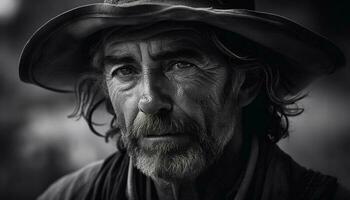
M 344 65 L 326 39 L 252 1 L 107 1 L 68 11 L 28 42 L 20 77 L 101 105 L 118 151 L 40 199 L 345 199 L 276 142 L 300 91 Z

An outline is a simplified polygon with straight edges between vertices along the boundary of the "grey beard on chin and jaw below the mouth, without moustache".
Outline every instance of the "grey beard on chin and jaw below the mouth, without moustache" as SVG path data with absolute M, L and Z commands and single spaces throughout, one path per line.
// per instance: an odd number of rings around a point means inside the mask
M 122 140 L 136 168 L 146 176 L 167 182 L 195 179 L 221 156 L 227 143 L 208 137 L 179 151 L 168 151 L 166 146 L 149 151 L 140 148 L 130 135 L 123 134 Z

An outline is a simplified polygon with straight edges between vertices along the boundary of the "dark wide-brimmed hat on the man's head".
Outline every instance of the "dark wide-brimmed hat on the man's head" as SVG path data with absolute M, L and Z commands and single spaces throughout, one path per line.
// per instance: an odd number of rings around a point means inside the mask
M 158 22 L 195 22 L 234 33 L 284 60 L 278 87 L 294 95 L 312 80 L 345 64 L 342 52 L 324 37 L 284 17 L 254 10 L 248 0 L 107 0 L 67 11 L 43 25 L 20 59 L 20 79 L 54 91 L 74 91 L 91 70 L 89 39 L 112 27 Z

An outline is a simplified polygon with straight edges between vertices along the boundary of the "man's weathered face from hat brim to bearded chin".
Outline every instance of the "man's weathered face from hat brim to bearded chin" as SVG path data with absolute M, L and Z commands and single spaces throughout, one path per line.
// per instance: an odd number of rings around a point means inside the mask
M 197 177 L 234 134 L 228 61 L 192 31 L 112 36 L 103 50 L 109 97 L 136 167 L 165 180 Z

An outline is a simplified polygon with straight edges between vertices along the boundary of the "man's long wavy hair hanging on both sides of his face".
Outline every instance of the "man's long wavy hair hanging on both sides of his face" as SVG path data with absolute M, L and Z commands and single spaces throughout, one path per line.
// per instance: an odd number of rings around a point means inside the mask
M 262 81 L 258 96 L 251 104 L 243 108 L 243 132 L 255 133 L 260 138 L 266 138 L 273 143 L 287 137 L 289 135 L 289 117 L 297 116 L 303 112 L 303 109 L 299 108 L 296 102 L 305 95 L 281 94 L 283 80 L 279 71 L 281 66 L 278 65 L 285 63 L 281 61 L 280 56 L 242 36 L 213 27 L 205 30 L 209 41 L 232 63 L 233 70 L 241 70 L 246 73 L 245 85 L 252 84 L 257 80 Z M 105 32 L 104 35 L 108 35 L 108 33 Z M 105 39 L 106 37 L 100 39 L 91 48 L 91 65 L 95 67 L 94 70 L 82 75 L 77 81 L 75 87 L 76 107 L 69 117 L 84 118 L 94 134 L 104 137 L 108 141 L 111 137 L 120 137 L 120 129 L 115 123 L 116 116 L 111 108 L 106 86 L 102 81 L 103 72 L 99 66 L 101 63 L 98 54 Z M 110 129 L 105 134 L 96 131 L 94 126 L 98 124 L 94 123 L 92 117 L 100 105 L 105 105 L 108 113 L 113 116 L 109 123 Z M 118 141 L 117 139 L 118 148 L 122 148 L 120 147 L 122 144 Z

